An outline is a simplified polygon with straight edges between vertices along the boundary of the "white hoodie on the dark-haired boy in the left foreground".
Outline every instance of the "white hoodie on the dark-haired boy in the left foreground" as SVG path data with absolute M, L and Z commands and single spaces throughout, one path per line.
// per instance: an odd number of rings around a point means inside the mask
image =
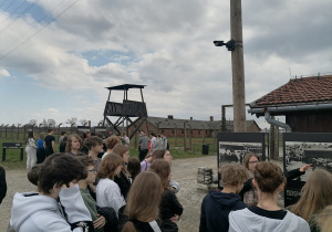
M 62 189 L 60 199 L 70 223 L 92 221 L 77 186 Z M 31 192 L 14 194 L 10 228 L 17 232 L 82 231 L 80 226 L 71 229 L 71 225 L 63 218 L 60 204 L 55 199 Z

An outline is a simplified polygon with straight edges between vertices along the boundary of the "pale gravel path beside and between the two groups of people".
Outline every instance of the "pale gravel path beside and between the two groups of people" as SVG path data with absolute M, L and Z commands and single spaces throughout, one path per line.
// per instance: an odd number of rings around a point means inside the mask
M 193 159 L 177 159 L 174 160 L 172 166 L 172 179 L 180 183 L 180 191 L 177 193 L 177 198 L 184 207 L 184 214 L 178 222 L 179 231 L 198 231 L 200 204 L 203 198 L 208 192 L 206 186 L 198 184 L 196 181 L 199 167 L 212 168 L 216 176 L 217 158 L 215 156 L 206 156 Z M 27 170 L 7 170 L 6 175 L 8 192 L 2 204 L 0 204 L 0 232 L 6 231 L 10 220 L 13 194 L 15 192 L 32 191 L 34 189 L 27 179 Z

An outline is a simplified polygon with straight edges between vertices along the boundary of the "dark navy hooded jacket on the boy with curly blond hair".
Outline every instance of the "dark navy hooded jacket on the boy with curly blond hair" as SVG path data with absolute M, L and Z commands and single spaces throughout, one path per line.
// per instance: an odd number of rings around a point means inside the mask
M 228 214 L 232 210 L 241 210 L 247 205 L 236 193 L 210 191 L 201 202 L 199 232 L 228 231 Z

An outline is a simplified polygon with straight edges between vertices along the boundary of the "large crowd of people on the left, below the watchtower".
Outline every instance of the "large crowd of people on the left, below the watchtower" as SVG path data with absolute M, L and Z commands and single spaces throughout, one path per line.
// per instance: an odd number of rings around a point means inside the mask
M 56 152 L 52 129 L 48 136 L 41 134 L 35 145 L 29 133 L 28 179 L 37 188 L 14 194 L 9 232 L 178 231 L 183 207 L 176 197 L 179 184 L 170 181 L 169 150 L 152 150 L 149 139 L 141 161 L 129 158 L 124 137 L 61 133 L 59 150 L 64 152 Z M 138 148 L 145 149 L 142 143 Z M 149 165 L 143 169 L 144 160 Z

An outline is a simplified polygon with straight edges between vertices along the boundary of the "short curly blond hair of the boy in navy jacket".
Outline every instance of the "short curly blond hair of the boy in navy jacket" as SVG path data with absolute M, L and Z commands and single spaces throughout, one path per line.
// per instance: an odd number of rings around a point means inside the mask
M 224 165 L 219 169 L 222 186 L 237 186 L 248 179 L 247 169 L 238 164 Z

